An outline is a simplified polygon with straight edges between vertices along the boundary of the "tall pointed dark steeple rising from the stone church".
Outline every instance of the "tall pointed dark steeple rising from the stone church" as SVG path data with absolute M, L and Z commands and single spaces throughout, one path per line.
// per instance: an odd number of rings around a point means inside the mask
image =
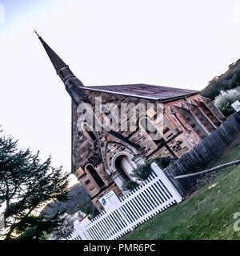
M 46 54 L 50 58 L 54 69 L 56 70 L 59 78 L 62 79 L 62 82 L 66 86 L 66 91 L 68 94 L 70 94 L 70 97 L 74 100 L 76 105 L 81 102 L 88 102 L 86 96 L 82 93 L 81 90 L 81 87 L 83 87 L 82 82 L 74 76 L 69 66 L 67 66 L 66 63 L 62 61 L 62 58 L 60 58 L 58 54 L 56 54 L 54 50 L 52 50 L 50 46 L 46 44 L 42 37 L 39 36 L 35 30 L 34 32 L 38 35 L 38 39 L 42 42 L 42 46 L 46 50 Z

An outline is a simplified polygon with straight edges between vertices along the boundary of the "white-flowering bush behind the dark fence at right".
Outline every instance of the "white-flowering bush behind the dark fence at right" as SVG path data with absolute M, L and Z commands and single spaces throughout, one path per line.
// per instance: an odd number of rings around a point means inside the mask
M 220 94 L 214 99 L 215 106 L 224 114 L 229 117 L 234 113 L 234 109 L 231 106 L 234 102 L 240 101 L 240 91 L 238 90 L 221 90 Z

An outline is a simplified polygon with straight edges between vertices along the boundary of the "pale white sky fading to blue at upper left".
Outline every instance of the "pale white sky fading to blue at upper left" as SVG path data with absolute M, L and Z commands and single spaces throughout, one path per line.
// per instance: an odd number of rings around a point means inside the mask
M 86 86 L 202 90 L 240 58 L 240 0 L 0 0 L 0 124 L 70 170 L 70 96 L 34 30 Z

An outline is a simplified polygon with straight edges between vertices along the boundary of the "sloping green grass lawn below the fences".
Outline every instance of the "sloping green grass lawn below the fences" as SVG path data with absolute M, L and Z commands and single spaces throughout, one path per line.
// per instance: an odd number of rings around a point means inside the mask
M 215 166 L 239 158 L 240 135 Z M 239 239 L 240 231 L 233 228 L 236 212 L 240 212 L 240 165 L 221 170 L 218 178 L 190 198 L 164 210 L 121 239 Z

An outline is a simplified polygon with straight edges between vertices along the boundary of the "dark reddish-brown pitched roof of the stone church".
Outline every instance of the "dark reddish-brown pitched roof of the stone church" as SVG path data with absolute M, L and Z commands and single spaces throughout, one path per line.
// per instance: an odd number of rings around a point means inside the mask
M 85 86 L 82 89 L 95 90 L 109 94 L 120 94 L 137 98 L 148 98 L 159 100 L 162 102 L 174 100 L 174 98 L 182 98 L 198 94 L 198 90 L 186 90 L 166 86 L 152 86 L 147 84 L 130 84 L 119 86 Z

